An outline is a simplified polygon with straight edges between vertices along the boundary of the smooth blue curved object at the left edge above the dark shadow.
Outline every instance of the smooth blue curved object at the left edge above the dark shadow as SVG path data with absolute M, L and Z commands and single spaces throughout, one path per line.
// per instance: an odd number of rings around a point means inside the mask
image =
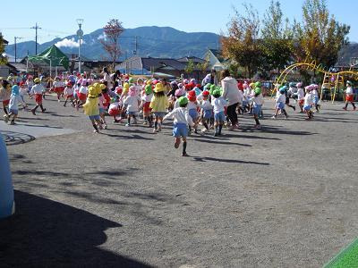
M 3 135 L 0 134 L 0 219 L 14 212 L 13 180 L 10 171 L 9 156 Z

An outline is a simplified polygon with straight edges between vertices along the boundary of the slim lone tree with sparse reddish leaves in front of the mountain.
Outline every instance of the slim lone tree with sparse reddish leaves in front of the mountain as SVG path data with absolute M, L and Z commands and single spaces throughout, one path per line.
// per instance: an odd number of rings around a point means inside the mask
M 121 47 L 119 46 L 119 37 L 124 32 L 122 22 L 116 19 L 112 19 L 107 22 L 107 25 L 103 28 L 105 38 L 99 42 L 103 48 L 109 54 L 109 58 L 112 61 L 113 69 L 115 69 L 115 62 L 121 55 Z

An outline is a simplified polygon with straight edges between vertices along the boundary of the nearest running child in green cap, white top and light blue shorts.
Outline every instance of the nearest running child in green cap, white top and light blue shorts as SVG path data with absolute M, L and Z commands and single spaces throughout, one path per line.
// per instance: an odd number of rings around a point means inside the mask
M 188 99 L 185 96 L 181 96 L 178 99 L 179 108 L 175 108 L 172 112 L 166 114 L 163 121 L 167 118 L 174 118 L 173 136 L 175 137 L 174 147 L 177 149 L 180 146 L 181 139 L 183 140 L 183 156 L 189 156 L 186 153 L 186 137 L 188 137 L 188 127 L 193 126 L 192 117 L 189 115 L 186 106 L 188 105 Z

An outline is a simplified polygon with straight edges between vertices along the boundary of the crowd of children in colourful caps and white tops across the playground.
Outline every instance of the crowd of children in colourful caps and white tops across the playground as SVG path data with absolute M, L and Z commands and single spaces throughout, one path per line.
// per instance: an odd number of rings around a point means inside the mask
M 348 103 L 355 105 L 353 101 L 352 83 L 347 82 L 346 109 Z M 162 123 L 166 119 L 174 119 L 173 135 L 175 136 L 175 148 L 179 147 L 183 141 L 183 156 L 187 156 L 187 136 L 192 130 L 198 133 L 198 126 L 203 125 L 203 133 L 214 129 L 214 136 L 222 134 L 222 129 L 226 118 L 226 99 L 222 96 L 222 88 L 216 85 L 200 85 L 196 80 L 173 81 L 170 84 L 166 80 L 142 80 L 136 81 L 128 76 L 121 81 L 114 81 L 113 87 L 108 88 L 107 80 L 87 79 L 81 75 L 74 80 L 56 77 L 51 91 L 56 93 L 57 99 L 61 102 L 64 97 L 64 106 L 69 102 L 77 110 L 83 108 L 92 123 L 94 131 L 99 133 L 102 129 L 107 129 L 106 114 L 113 117 L 114 122 L 122 122 L 126 119 L 126 127 L 132 126 L 138 120 L 138 114 L 142 113 L 143 123 L 153 128 L 157 133 L 162 130 Z M 38 107 L 43 113 L 46 109 L 42 101 L 46 88 L 41 84 L 41 80 L 28 78 L 21 81 L 19 85 L 13 86 L 7 80 L 2 80 L 0 97 L 4 106 L 4 121 L 15 123 L 18 115 L 19 105 L 27 107 L 24 96 L 35 99 L 36 106 L 30 111 L 36 115 Z M 260 129 L 260 117 L 262 116 L 262 96 L 260 82 L 244 82 L 242 87 L 238 87 L 239 113 L 251 113 L 255 121 L 254 128 Z M 314 107 L 319 112 L 320 104 L 318 97 L 318 86 L 310 85 L 303 88 L 303 83 L 290 83 L 287 86 L 277 86 L 276 107 L 273 119 L 279 113 L 288 117 L 286 105 L 295 110 L 294 105 L 290 105 L 290 97 L 294 97 L 301 109 L 300 113 L 306 113 L 307 120 L 311 120 Z M 9 111 L 7 111 L 7 108 Z

